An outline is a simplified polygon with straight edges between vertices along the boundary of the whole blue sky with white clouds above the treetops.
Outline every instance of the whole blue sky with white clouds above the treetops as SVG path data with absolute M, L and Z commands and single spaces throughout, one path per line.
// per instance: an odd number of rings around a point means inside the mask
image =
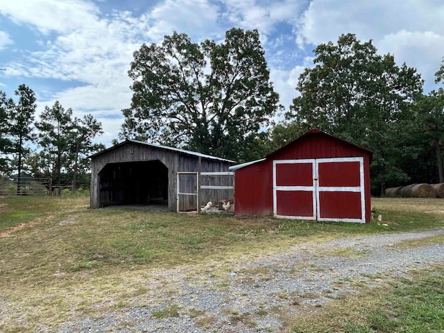
M 443 0 L 0 0 L 0 90 L 24 83 L 37 114 L 60 101 L 76 117 L 91 113 L 117 138 L 130 106 L 128 69 L 142 43 L 173 31 L 193 42 L 223 40 L 232 27 L 257 28 L 271 80 L 285 108 L 312 50 L 342 33 L 373 40 L 398 65 L 416 67 L 425 91 L 444 56 Z

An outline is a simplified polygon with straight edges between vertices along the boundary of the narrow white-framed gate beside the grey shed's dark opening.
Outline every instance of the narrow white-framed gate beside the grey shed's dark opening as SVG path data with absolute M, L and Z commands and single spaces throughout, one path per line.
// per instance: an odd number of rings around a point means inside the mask
M 177 176 L 177 212 L 199 210 L 199 173 L 178 172 Z

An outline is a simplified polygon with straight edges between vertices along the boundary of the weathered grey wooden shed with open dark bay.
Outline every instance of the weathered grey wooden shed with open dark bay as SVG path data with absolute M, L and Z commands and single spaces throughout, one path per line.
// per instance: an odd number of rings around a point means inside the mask
M 89 157 L 91 208 L 154 203 L 182 212 L 197 210 L 209 200 L 232 198 L 232 176 L 224 176 L 234 161 L 136 140 Z M 205 186 L 214 184 L 219 189 Z

